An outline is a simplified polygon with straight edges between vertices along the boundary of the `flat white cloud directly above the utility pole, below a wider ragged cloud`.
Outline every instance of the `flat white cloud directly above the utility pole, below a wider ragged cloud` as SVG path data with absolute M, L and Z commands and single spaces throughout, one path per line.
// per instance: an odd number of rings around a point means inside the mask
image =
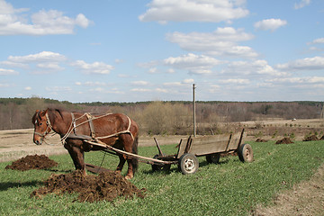
M 179 69 L 189 70 L 193 74 L 210 74 L 211 67 L 222 64 L 222 62 L 216 58 L 207 56 L 197 56 L 193 53 L 188 53 L 180 57 L 170 57 L 164 59 L 166 66 L 176 67 Z

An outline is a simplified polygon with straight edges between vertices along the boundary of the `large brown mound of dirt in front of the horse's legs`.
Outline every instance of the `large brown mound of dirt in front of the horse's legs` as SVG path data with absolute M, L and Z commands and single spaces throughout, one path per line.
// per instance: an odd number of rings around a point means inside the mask
M 116 172 L 102 172 L 99 175 L 82 175 L 76 170 L 70 174 L 51 175 L 44 186 L 33 191 L 31 197 L 41 198 L 47 193 L 78 193 L 79 202 L 109 201 L 124 196 L 125 199 L 134 195 L 144 198 L 145 188 L 138 189 L 130 181 Z

